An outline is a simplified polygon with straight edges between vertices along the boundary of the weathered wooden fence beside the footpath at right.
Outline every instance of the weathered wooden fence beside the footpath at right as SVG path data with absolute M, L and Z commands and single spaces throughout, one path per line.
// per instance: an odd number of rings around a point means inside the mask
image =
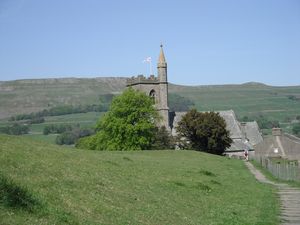
M 298 160 L 281 158 L 254 157 L 260 165 L 282 180 L 300 181 L 300 165 Z

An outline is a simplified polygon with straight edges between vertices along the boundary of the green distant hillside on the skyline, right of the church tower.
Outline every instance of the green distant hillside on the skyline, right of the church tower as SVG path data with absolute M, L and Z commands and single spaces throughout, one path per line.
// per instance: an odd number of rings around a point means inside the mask
M 239 117 L 265 115 L 270 120 L 283 122 L 287 117 L 300 115 L 300 101 L 290 100 L 289 95 L 300 98 L 300 86 L 271 87 L 263 84 L 216 85 L 197 87 L 170 87 L 192 99 L 199 110 L 233 109 Z

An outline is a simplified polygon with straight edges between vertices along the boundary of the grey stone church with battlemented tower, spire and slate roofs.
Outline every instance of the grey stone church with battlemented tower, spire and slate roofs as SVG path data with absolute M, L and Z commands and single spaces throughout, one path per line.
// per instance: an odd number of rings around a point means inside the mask
M 138 75 L 137 77 L 127 79 L 126 86 L 145 92 L 153 98 L 155 107 L 162 118 L 160 126 L 165 126 L 175 136 L 176 125 L 186 112 L 169 111 L 167 62 L 162 45 L 160 46 L 157 62 L 157 77 L 154 75 L 150 75 L 149 77 Z M 255 121 L 240 123 L 233 110 L 218 112 L 226 121 L 226 128 L 230 131 L 230 137 L 233 140 L 231 146 L 226 149 L 227 155 L 239 156 L 243 154 L 245 149 L 253 151 L 254 146 L 263 141 L 259 127 Z

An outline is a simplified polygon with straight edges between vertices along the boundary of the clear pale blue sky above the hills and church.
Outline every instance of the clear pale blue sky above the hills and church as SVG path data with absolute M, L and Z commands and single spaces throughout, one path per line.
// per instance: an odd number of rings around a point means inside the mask
M 156 74 L 300 85 L 300 0 L 0 0 L 0 81 Z

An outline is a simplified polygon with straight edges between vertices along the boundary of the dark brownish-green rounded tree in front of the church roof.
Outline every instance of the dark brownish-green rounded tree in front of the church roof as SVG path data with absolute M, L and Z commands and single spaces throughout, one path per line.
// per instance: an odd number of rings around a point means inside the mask
M 222 155 L 232 143 L 225 120 L 215 112 L 192 109 L 182 117 L 176 130 L 184 148 Z

